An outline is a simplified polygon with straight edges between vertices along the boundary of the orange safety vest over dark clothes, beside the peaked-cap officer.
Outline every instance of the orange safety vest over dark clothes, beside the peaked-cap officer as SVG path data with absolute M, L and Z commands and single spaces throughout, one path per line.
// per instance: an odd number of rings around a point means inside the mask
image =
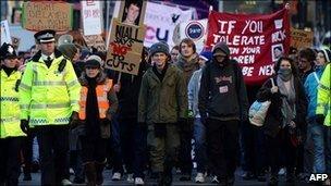
M 112 79 L 106 79 L 105 84 L 98 85 L 96 87 L 97 90 L 97 100 L 99 108 L 99 116 L 100 119 L 106 119 L 107 111 L 111 103 L 108 101 L 108 92 L 112 87 Z M 86 119 L 86 98 L 87 98 L 88 88 L 83 86 L 81 89 L 81 100 L 79 100 L 79 119 Z

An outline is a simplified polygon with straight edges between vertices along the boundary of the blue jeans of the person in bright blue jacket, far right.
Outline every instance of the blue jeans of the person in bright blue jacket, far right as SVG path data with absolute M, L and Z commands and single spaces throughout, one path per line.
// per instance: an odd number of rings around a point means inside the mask
M 314 173 L 326 173 L 324 126 L 308 121 L 307 141 L 314 144 Z

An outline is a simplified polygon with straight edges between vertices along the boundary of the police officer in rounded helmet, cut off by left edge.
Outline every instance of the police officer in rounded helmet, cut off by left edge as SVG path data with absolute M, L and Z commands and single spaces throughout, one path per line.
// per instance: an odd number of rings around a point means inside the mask
M 0 53 L 0 185 L 12 186 L 19 184 L 21 142 L 26 136 L 20 128 L 17 86 L 21 72 L 16 67 L 17 55 L 12 45 L 4 42 Z

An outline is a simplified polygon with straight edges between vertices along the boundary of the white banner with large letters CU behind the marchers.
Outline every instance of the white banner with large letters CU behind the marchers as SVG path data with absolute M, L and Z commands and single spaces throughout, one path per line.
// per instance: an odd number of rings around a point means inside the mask
M 194 11 L 148 2 L 144 22 L 147 25 L 144 46 L 150 47 L 158 41 L 166 41 L 170 48 L 173 47 L 172 35 L 175 26 L 192 20 Z

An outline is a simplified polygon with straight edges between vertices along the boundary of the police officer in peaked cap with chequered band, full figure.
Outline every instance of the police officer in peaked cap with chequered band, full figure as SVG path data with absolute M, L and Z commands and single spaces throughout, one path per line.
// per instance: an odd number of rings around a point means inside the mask
M 54 35 L 51 29 L 35 34 L 40 50 L 27 63 L 20 85 L 21 128 L 37 133 L 41 185 L 70 185 L 69 123 L 78 116 L 81 85 L 71 61 L 56 49 Z

